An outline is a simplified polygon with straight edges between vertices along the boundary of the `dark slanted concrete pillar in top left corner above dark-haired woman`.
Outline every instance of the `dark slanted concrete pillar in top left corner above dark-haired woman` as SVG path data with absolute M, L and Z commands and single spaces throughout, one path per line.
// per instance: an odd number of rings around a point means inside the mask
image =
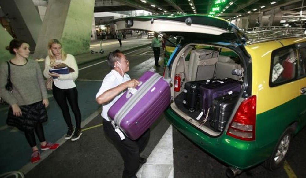
M 18 39 L 27 41 L 35 49 L 42 21 L 32 0 L 0 0 L 0 6 Z

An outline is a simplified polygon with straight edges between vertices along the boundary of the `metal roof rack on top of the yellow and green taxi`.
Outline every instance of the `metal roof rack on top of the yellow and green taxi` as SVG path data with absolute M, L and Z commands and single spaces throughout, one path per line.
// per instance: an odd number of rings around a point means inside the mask
M 283 26 L 254 27 L 244 30 L 244 33 L 248 36 L 247 43 L 251 44 L 277 39 L 305 37 L 305 28 Z

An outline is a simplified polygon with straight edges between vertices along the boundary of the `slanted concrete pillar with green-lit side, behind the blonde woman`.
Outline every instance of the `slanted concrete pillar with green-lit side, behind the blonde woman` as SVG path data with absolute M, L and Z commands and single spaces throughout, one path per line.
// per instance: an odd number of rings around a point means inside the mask
M 95 0 L 49 0 L 34 58 L 47 55 L 49 39 L 59 39 L 68 54 L 89 52 Z

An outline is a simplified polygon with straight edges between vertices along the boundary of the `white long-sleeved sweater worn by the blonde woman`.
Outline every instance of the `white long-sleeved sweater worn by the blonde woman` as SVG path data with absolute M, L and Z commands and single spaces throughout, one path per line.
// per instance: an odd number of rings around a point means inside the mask
M 79 76 L 79 68 L 77 66 L 75 58 L 73 57 L 73 55 L 67 54 L 66 60 L 61 62 L 74 69 L 74 72 L 71 72 L 69 74 L 59 74 L 59 77 L 57 79 L 54 79 L 54 85 L 61 89 L 69 89 L 76 87 L 74 80 L 76 80 Z M 52 69 L 52 67 L 50 67 L 50 58 L 49 56 L 47 56 L 45 59 L 45 69 L 43 70 L 43 75 L 46 78 L 51 77 L 49 75 L 50 69 Z

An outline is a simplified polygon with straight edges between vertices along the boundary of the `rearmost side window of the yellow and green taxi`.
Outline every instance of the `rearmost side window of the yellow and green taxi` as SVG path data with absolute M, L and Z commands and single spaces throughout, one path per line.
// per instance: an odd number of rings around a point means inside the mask
M 281 85 L 296 77 L 297 53 L 293 47 L 285 47 L 272 53 L 270 71 L 271 86 Z

